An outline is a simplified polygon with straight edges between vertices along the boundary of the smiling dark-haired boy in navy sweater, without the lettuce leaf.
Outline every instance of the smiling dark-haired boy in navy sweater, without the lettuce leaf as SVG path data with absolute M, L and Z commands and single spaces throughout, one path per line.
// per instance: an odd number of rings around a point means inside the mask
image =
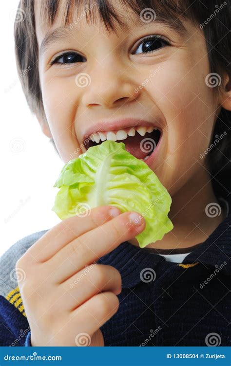
M 19 11 L 23 90 L 63 162 L 122 140 L 168 189 L 174 228 L 140 249 L 145 217 L 97 207 L 20 240 L 0 262 L 1 345 L 228 346 L 230 1 Z

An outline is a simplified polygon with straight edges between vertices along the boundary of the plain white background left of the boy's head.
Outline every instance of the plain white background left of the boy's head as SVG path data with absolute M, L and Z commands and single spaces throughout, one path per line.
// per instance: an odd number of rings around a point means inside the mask
M 63 163 L 21 89 L 13 37 L 17 7 L 18 0 L 1 4 L 0 255 L 20 238 L 60 221 L 51 208 Z

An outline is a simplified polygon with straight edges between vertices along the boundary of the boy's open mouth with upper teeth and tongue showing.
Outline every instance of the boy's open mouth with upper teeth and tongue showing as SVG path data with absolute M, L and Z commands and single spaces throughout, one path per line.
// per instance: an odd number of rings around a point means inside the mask
M 147 160 L 159 143 L 161 131 L 156 127 L 137 126 L 114 131 L 94 132 L 85 139 L 85 147 L 100 145 L 103 141 L 123 142 L 137 159 Z

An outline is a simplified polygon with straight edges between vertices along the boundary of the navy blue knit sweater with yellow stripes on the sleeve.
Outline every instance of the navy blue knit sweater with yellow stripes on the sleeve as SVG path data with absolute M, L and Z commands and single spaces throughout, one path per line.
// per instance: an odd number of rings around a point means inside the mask
M 12 268 L 15 253 L 23 248 L 20 257 L 43 234 L 10 248 Z M 180 264 L 128 242 L 102 257 L 99 263 L 116 267 L 122 276 L 119 310 L 101 327 L 105 346 L 229 346 L 230 254 L 231 215 Z M 5 262 L 5 271 L 8 267 Z M 8 285 L 8 275 L 0 279 Z M 0 296 L 0 346 L 30 346 L 29 324 L 13 284 Z

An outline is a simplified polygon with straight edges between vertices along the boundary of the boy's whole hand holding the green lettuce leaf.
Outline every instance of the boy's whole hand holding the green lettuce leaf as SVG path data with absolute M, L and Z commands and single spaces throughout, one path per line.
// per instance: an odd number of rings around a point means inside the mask
M 19 258 L 32 346 L 104 346 L 99 328 L 118 310 L 121 276 L 96 261 L 144 230 L 139 216 L 97 207 L 58 223 Z

